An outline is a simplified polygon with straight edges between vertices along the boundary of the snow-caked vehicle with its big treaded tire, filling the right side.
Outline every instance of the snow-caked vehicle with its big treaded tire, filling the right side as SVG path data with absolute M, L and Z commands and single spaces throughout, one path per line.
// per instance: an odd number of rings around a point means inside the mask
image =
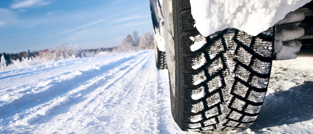
M 150 2 L 155 48 L 166 52 L 172 115 L 185 131 L 253 124 L 272 60 L 296 58 L 298 40 L 310 31 L 311 22 L 301 22 L 312 11 L 299 9 L 310 0 Z

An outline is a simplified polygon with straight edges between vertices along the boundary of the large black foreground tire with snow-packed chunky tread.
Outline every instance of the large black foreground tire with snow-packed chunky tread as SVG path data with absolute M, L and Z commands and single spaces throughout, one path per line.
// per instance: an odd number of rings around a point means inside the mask
M 252 125 L 267 91 L 273 60 L 274 31 L 258 36 L 225 29 L 198 50 L 188 0 L 173 1 L 175 87 L 172 115 L 184 131 L 220 131 Z M 174 81 L 170 79 L 170 81 Z

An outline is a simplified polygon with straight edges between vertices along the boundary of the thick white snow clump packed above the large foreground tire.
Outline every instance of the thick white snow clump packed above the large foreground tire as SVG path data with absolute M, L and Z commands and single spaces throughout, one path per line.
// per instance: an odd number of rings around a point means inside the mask
M 274 26 L 288 12 L 311 0 L 190 0 L 198 31 L 209 36 L 236 28 L 256 36 Z

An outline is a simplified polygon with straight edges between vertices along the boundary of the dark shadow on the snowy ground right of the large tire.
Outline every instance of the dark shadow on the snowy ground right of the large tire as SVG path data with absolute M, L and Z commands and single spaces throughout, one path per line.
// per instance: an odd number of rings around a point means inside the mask
M 263 108 L 252 130 L 294 124 L 313 119 L 313 82 L 278 91 L 265 97 Z

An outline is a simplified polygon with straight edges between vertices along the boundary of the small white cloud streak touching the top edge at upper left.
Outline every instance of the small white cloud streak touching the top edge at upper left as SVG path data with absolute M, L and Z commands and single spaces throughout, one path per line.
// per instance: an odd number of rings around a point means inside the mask
M 49 4 L 48 0 L 23 0 L 23 1 L 15 1 L 10 5 L 12 9 L 18 8 L 26 8 L 32 6 L 44 6 Z

